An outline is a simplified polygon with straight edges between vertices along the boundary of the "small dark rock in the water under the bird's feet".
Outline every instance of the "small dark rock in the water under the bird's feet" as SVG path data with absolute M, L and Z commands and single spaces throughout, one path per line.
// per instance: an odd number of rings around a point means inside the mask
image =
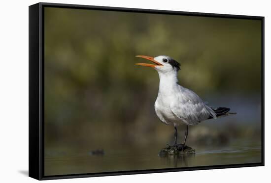
M 194 155 L 195 149 L 179 144 L 177 146 L 169 146 L 167 148 L 161 149 L 159 156 L 165 157 L 165 156 L 176 156 L 176 155 Z

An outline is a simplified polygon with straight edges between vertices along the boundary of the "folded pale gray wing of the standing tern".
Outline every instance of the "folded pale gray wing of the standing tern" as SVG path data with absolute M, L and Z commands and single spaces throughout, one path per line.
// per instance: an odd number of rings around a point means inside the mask
M 170 104 L 171 111 L 180 119 L 190 125 L 196 125 L 201 121 L 216 118 L 215 112 L 192 90 L 180 86 L 176 100 Z

